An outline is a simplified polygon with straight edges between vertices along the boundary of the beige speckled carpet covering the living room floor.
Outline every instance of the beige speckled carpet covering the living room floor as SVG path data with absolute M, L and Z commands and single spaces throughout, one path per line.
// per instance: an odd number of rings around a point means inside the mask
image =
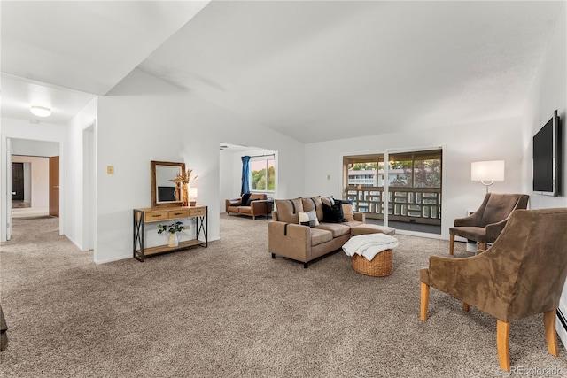
M 221 215 L 221 240 L 97 266 L 57 219 L 14 220 L 0 253 L 7 377 L 484 377 L 501 371 L 495 320 L 418 270 L 448 243 L 398 235 L 394 273 L 357 274 L 338 251 L 308 269 L 268 254 L 267 220 Z M 455 256 L 470 256 L 463 243 Z M 541 316 L 512 323 L 512 366 L 563 369 Z

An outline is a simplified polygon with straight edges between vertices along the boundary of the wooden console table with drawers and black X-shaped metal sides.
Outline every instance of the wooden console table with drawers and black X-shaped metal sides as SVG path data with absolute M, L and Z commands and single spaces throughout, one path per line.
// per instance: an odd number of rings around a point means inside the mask
M 207 206 L 191 207 L 149 207 L 144 209 L 134 209 L 134 248 L 133 256 L 139 261 L 158 253 L 179 251 L 192 247 L 193 245 L 208 246 L 207 238 Z M 152 222 L 167 222 L 167 220 L 180 220 L 185 218 L 195 218 L 195 238 L 179 242 L 176 247 L 159 245 L 157 247 L 144 248 L 144 225 Z

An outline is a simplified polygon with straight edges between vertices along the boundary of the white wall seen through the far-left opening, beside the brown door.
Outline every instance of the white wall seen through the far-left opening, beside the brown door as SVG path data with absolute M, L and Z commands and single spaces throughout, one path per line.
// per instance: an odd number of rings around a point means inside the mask
M 31 207 L 50 205 L 50 158 L 35 156 L 14 156 L 12 163 L 31 164 Z

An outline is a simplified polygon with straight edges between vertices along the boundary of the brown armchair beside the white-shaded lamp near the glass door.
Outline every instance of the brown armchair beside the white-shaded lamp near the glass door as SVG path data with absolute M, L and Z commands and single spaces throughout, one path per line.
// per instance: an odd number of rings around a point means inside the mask
M 500 235 L 510 214 L 517 209 L 526 209 L 530 197 L 526 194 L 486 193 L 478 210 L 466 218 L 454 220 L 449 228 L 449 254 L 454 252 L 454 236 L 462 236 L 478 242 L 479 249 L 485 250 L 487 243 L 494 243 Z

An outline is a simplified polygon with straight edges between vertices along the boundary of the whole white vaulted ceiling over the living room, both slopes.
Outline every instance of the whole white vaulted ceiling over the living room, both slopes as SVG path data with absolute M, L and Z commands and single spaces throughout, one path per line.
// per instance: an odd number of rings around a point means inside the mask
M 12 3 L 3 73 L 104 95 L 138 66 L 304 143 L 521 115 L 565 6 Z

